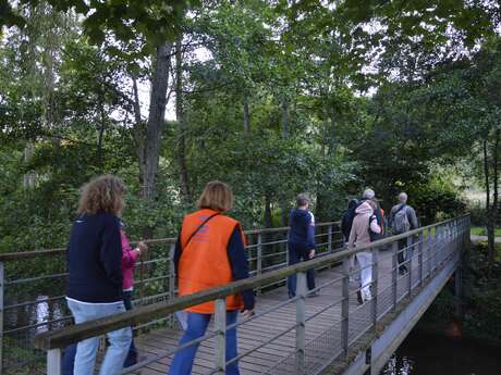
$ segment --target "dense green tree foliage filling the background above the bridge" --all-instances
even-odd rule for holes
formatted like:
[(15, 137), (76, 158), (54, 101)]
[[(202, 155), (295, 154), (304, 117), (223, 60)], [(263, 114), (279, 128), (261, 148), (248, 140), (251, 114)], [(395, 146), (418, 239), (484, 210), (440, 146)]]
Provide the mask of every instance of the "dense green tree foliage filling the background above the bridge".
[[(281, 215), (273, 223), (283, 223), (300, 191), (314, 198), (318, 221), (338, 218), (346, 197), (364, 186), (387, 209), (406, 190), (427, 223), (461, 212), (452, 177), (435, 165), (462, 157), (471, 139), (492, 129), (498, 102), (488, 93), (497, 92), (500, 75), (496, 38), (485, 41), (496, 22), (492, 3), (453, 3), (447, 12), (440, 2), (5, 5), (4, 16), (17, 14), (24, 26), (0, 43), (1, 173), (9, 182), (0, 204), (24, 215), (0, 220), (0, 247), (64, 245), (78, 188), (100, 173), (119, 174), (129, 186), (131, 237), (146, 228), (174, 234), (216, 178), (233, 187), (232, 214), (246, 227), (270, 224), (270, 212)], [(69, 10), (82, 17), (73, 20)], [(132, 84), (155, 75), (145, 57), (180, 33), (183, 121), (166, 124), (150, 201), (140, 196), (138, 140), (147, 109)], [(471, 61), (452, 53), (450, 46), (469, 48), (472, 40), (485, 48)], [(367, 73), (368, 64), (378, 74)], [(361, 97), (371, 85), (377, 92)], [(485, 115), (475, 116), (480, 104)], [(26, 145), (33, 154), (23, 155)], [(186, 171), (190, 197), (180, 183)], [(22, 180), (29, 175), (36, 183), (28, 187)]]

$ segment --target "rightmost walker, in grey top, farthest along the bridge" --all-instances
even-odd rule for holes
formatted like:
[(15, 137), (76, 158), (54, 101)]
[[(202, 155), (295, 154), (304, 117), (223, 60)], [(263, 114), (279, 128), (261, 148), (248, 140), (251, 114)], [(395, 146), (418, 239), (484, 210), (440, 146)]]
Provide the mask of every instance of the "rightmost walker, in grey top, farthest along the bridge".
[[(399, 195), (399, 203), (391, 209), (389, 224), (395, 235), (419, 227), (416, 211), (407, 204), (407, 195), (405, 192)], [(396, 259), (399, 263), (399, 273), (401, 275), (407, 272), (407, 265), (404, 263), (412, 261), (413, 246), (411, 242), (412, 238), (410, 238), (410, 241), (407, 241), (407, 238), (399, 240), (399, 253)]]

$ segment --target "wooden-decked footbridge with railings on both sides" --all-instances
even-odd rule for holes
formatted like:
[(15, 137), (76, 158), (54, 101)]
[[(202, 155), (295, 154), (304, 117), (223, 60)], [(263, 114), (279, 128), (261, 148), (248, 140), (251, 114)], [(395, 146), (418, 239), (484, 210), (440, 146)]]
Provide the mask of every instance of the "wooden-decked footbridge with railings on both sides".
[[(257, 293), (256, 314), (236, 323), (239, 363), (242, 374), (379, 374), (388, 359), (414, 327), (454, 273), (461, 272), (461, 253), (469, 243), (469, 216), (461, 216), (372, 242), (354, 250), (343, 249), (337, 223), (317, 224), (319, 254), (316, 259), (286, 266), (288, 228), (247, 232), (253, 277), (200, 293), (175, 297), (171, 270), (173, 239), (154, 240), (151, 259), (136, 270), (136, 308), (111, 317), (71, 325), (64, 309), (64, 270), (58, 262), (44, 275), (4, 278), (2, 285), (3, 374), (61, 374), (65, 347), (84, 338), (133, 326), (142, 361), (123, 374), (166, 374), (179, 350), (181, 335), (175, 311), (216, 300), (217, 313), (203, 338), (197, 340), (193, 374), (224, 374), (224, 297), (253, 288)], [(399, 242), (400, 249), (399, 249)], [(406, 246), (404, 247), (403, 245)], [(350, 258), (358, 251), (372, 252), (372, 300), (359, 305), (356, 292), (359, 271), (351, 273)], [(408, 272), (401, 275), (398, 253), (406, 254)], [(61, 250), (27, 255), (2, 255), (1, 270), (15, 274), (11, 264), (33, 257), (64, 258)], [(47, 262), (47, 260), (45, 260)], [(60, 264), (61, 266), (61, 264)], [(305, 272), (315, 268), (317, 297), (306, 290)], [(284, 280), (297, 274), (297, 296), (290, 299)], [(461, 277), (455, 277), (460, 287)], [(40, 282), (56, 283), (50, 292), (35, 291), (36, 301), (15, 300), (10, 288), (23, 290)], [(26, 291), (25, 299), (33, 290)], [(3, 296), (3, 293), (5, 296)], [(40, 293), (45, 297), (39, 298)], [(14, 291), (15, 295), (15, 291)], [(49, 303), (50, 302), (50, 303)], [(44, 305), (42, 321), (27, 318), (16, 327), (8, 312), (27, 305)], [(230, 327), (232, 328), (232, 327)], [(36, 337), (35, 337), (36, 336)], [(195, 342), (193, 342), (195, 343)], [(188, 343), (190, 345), (190, 343)], [(34, 349), (36, 347), (37, 349)], [(29, 352), (26, 355), (19, 353)]]

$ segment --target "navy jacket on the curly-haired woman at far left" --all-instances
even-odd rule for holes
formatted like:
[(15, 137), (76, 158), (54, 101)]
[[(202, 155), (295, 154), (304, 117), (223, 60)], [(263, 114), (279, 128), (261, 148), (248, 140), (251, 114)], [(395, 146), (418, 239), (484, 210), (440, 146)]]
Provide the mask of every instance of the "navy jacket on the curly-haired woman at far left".
[(90, 303), (122, 301), (122, 242), (117, 216), (80, 216), (73, 223), (66, 260), (68, 297)]

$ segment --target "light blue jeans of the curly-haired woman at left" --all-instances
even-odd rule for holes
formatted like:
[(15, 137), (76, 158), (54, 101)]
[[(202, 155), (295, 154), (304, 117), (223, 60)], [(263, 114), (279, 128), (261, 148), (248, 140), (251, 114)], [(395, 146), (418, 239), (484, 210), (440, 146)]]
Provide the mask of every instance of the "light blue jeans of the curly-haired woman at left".
[[(94, 321), (99, 317), (113, 315), (125, 311), (122, 301), (115, 303), (83, 303), (68, 300), (75, 324)], [(113, 330), (107, 334), (110, 347), (106, 351), (100, 375), (118, 375), (123, 370), (123, 362), (129, 352), (132, 340), (130, 327)], [(93, 375), (96, 364), (96, 353), (99, 346), (99, 337), (91, 337), (78, 342), (76, 347), (74, 375)]]

